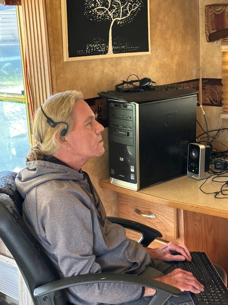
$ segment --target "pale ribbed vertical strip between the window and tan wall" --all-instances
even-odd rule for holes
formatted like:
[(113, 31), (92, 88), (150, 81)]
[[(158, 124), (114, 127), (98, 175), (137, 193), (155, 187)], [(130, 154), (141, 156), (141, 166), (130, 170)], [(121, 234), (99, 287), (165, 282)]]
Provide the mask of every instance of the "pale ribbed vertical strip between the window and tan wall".
[(22, 0), (27, 75), (33, 112), (52, 94), (45, 0)]

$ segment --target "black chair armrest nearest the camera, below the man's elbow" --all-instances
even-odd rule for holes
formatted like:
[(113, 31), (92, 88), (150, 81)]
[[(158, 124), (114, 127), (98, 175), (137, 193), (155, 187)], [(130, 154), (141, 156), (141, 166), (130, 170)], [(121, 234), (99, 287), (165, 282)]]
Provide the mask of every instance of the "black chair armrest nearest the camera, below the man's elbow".
[(179, 296), (181, 294), (180, 289), (145, 276), (122, 273), (95, 273), (80, 274), (47, 283), (45, 285), (37, 287), (34, 290), (33, 295), (34, 297), (39, 299), (40, 304), (46, 305), (50, 303), (50, 300), (53, 300), (54, 293), (57, 290), (66, 289), (75, 285), (85, 285), (94, 283), (132, 284), (156, 289), (156, 293), (153, 298), (153, 304), (159, 305), (162, 305), (166, 300), (168, 300), (170, 296)]

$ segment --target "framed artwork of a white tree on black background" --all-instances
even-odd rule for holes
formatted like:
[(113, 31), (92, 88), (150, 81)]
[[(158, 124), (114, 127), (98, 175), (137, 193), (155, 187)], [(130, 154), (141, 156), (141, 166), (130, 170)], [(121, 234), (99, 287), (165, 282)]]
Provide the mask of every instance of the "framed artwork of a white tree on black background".
[(61, 0), (64, 61), (150, 54), (149, 0)]

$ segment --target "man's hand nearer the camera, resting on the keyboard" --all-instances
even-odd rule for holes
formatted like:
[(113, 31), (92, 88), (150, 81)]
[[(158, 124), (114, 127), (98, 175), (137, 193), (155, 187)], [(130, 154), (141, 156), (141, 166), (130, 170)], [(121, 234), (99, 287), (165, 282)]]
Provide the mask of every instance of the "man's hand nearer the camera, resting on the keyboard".
[(162, 276), (161, 278), (154, 278), (159, 282), (163, 282), (175, 286), (181, 291), (191, 291), (193, 293), (200, 293), (204, 291), (204, 286), (197, 281), (191, 272), (182, 270), (180, 268)]

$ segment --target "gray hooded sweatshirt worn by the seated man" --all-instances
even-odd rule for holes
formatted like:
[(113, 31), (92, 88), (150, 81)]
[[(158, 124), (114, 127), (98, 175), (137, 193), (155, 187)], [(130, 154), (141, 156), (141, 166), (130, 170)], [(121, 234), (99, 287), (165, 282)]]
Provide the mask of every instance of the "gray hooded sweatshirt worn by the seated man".
[[(62, 164), (27, 162), (16, 177), (25, 199), (24, 221), (61, 277), (99, 272), (140, 274), (150, 264), (149, 254), (126, 237), (122, 226), (107, 220), (88, 180), (81, 170)], [(140, 298), (143, 288), (102, 283), (79, 285), (67, 293), (74, 304), (116, 304)]]

